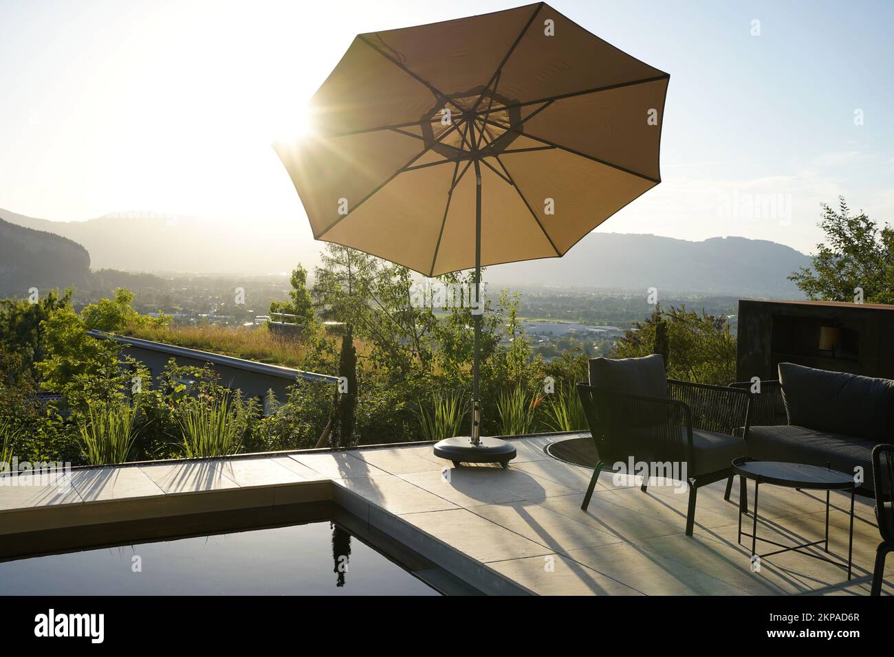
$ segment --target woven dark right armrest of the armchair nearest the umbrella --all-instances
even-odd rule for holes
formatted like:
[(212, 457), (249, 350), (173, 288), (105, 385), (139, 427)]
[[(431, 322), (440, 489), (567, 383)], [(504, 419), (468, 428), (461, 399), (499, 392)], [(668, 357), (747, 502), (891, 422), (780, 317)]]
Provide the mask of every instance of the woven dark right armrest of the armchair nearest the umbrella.
[(687, 404), (692, 413), (693, 428), (717, 434), (748, 435), (751, 395), (741, 388), (709, 385), (668, 379), (671, 398)]

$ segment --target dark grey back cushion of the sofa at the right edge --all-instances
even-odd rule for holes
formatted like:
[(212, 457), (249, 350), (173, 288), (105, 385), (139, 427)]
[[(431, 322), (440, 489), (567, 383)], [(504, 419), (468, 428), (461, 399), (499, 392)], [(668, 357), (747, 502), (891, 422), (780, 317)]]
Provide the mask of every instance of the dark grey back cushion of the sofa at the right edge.
[(894, 381), (780, 363), (789, 425), (889, 442)]

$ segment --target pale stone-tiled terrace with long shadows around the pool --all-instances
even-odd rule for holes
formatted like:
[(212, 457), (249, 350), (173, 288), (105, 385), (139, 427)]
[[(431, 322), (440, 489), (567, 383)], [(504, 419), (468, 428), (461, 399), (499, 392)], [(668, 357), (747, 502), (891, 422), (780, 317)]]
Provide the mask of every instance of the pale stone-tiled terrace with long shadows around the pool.
[[(880, 540), (870, 501), (857, 498), (849, 584), (843, 569), (797, 552), (764, 559), (755, 573), (748, 548), (737, 544), (737, 507), (723, 501), (723, 482), (699, 489), (692, 538), (684, 535), (687, 494), (671, 487), (642, 493), (603, 473), (585, 512), (592, 471), (544, 453), (568, 437), (516, 439), (519, 457), (506, 470), (452, 468), (431, 445), (75, 469), (67, 493), (0, 487), (0, 534), (223, 509), (236, 493), (240, 504), (249, 495), (263, 506), (333, 492), (337, 500), (348, 489), (369, 502), (354, 505), (358, 514), (390, 512), (536, 594), (869, 594)], [(738, 482), (733, 491), (735, 502)], [(849, 497), (832, 493), (832, 501), (830, 549), (847, 556)], [(760, 511), (759, 535), (780, 543), (822, 537), (823, 493), (764, 485)], [(894, 593), (889, 562), (883, 594)]]

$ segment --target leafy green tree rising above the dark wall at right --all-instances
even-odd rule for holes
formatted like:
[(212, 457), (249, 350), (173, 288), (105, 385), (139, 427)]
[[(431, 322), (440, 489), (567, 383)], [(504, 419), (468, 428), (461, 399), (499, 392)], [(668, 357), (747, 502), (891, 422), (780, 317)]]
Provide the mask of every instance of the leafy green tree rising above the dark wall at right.
[(856, 288), (867, 303), (894, 303), (894, 230), (880, 227), (862, 210), (851, 214), (839, 197), (838, 208), (822, 204), (818, 224), (826, 240), (816, 245), (810, 266), (789, 276), (808, 299), (852, 301)]

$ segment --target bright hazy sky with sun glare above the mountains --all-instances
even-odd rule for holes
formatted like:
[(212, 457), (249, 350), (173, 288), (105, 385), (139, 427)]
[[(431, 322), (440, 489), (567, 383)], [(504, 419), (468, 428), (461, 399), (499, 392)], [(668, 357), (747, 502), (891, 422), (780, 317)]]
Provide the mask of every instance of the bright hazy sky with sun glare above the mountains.
[[(516, 4), (0, 0), (0, 207), (306, 225), (270, 143), (354, 35)], [(552, 6), (671, 73), (662, 184), (599, 230), (810, 251), (839, 194), (894, 219), (894, 2)]]

